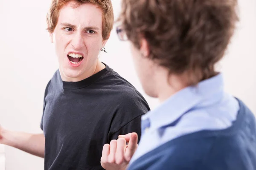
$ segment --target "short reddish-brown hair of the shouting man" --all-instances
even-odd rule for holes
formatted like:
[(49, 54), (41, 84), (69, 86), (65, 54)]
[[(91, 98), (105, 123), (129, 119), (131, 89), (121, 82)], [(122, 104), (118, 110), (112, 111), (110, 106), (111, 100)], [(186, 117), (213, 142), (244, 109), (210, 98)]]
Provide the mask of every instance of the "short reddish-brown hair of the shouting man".
[(52, 0), (51, 7), (47, 13), (47, 30), (52, 33), (58, 22), (58, 14), (61, 8), (67, 3), (75, 1), (76, 5), (80, 6), (83, 3), (91, 3), (99, 6), (102, 9), (102, 37), (104, 40), (109, 38), (113, 28), (114, 14), (111, 0)]

